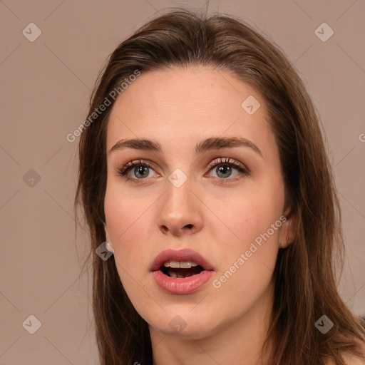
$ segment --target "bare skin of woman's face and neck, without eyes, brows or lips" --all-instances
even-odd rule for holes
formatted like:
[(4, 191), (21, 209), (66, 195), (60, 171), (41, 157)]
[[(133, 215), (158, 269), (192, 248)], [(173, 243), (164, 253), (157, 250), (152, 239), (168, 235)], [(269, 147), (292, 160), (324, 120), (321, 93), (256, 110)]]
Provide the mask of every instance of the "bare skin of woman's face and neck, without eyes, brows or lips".
[[(253, 115), (241, 107), (248, 96), (261, 104)], [(255, 143), (262, 157), (245, 147), (195, 153), (200, 140), (232, 136)], [(107, 149), (136, 137), (158, 141), (163, 152), (108, 152), (106, 239), (128, 297), (150, 324), (153, 364), (242, 364), (242, 359), (247, 365), (268, 364), (267, 356), (259, 361), (259, 351), (272, 310), (272, 273), (279, 248), (293, 240), (295, 217), (284, 210), (279, 151), (264, 99), (227, 71), (142, 73), (111, 110)], [(153, 164), (148, 177), (138, 179), (137, 168), (129, 171), (140, 184), (118, 175), (123, 164), (139, 158)], [(208, 168), (217, 158), (232, 158), (250, 174), (233, 168), (222, 177), (220, 166)], [(187, 175), (181, 187), (168, 180), (176, 168)], [(213, 287), (212, 280), (282, 215), (287, 221), (219, 289)], [(167, 248), (185, 247), (210, 261), (215, 273), (192, 294), (163, 292), (150, 264)], [(176, 315), (186, 324), (178, 333), (169, 325)]]

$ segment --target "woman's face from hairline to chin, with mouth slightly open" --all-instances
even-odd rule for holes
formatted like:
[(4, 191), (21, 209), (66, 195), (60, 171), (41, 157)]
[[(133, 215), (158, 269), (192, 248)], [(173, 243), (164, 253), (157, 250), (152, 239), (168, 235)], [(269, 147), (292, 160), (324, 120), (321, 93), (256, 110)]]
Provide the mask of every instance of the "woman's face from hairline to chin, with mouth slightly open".
[[(255, 89), (210, 68), (141, 73), (115, 101), (106, 239), (151, 329), (203, 338), (270, 307), (277, 252), (292, 235), (265, 118)], [(135, 138), (150, 142), (116, 145)]]

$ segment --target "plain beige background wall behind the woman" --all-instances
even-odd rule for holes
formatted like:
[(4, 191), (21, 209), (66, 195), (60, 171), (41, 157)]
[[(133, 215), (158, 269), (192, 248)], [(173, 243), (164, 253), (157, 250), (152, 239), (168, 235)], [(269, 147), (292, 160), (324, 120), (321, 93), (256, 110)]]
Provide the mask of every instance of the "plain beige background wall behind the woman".
[[(86, 118), (115, 46), (160, 9), (181, 4), (203, 5), (0, 1), (0, 364), (98, 364), (88, 274), (78, 279), (87, 250), (73, 220), (78, 139), (66, 135)], [(322, 115), (344, 215), (348, 262), (339, 289), (365, 315), (365, 1), (210, 1), (210, 9), (257, 26), (304, 78)], [(41, 29), (34, 42), (22, 34), (31, 22)], [(323, 22), (334, 30), (325, 42), (314, 33)], [(35, 334), (22, 326), (31, 314), (41, 322)]]

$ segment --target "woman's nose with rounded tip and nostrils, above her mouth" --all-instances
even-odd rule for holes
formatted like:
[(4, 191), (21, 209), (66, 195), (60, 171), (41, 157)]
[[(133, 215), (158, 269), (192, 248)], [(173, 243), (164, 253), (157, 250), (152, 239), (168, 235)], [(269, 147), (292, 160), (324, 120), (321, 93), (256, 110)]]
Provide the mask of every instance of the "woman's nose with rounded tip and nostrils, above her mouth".
[(158, 227), (163, 235), (192, 235), (202, 229), (202, 202), (191, 190), (190, 180), (180, 187), (168, 181), (160, 200)]

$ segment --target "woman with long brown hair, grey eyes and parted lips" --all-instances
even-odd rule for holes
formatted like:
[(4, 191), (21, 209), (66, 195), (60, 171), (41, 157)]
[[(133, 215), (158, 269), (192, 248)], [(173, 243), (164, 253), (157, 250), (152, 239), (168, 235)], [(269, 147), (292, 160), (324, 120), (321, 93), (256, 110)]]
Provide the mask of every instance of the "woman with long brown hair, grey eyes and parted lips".
[(101, 364), (364, 364), (319, 123), (282, 51), (230, 17), (171, 11), (115, 49), (76, 193)]

